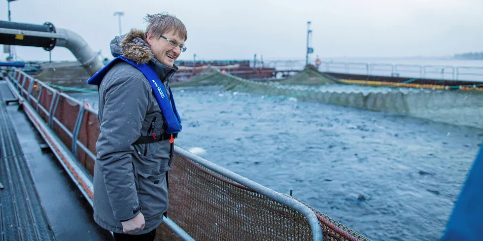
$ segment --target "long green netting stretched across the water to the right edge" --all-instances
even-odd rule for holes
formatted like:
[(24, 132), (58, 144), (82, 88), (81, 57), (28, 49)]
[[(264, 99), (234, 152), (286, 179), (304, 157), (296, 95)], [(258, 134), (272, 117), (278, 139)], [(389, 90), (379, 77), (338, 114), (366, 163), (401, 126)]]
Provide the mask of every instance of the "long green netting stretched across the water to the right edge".
[[(311, 70), (306, 71), (309, 72)], [(304, 74), (306, 74), (304, 73)], [(300, 77), (301, 78), (301, 77)], [(304, 80), (300, 79), (303, 83)], [(212, 86), (217, 90), (258, 94), (265, 99), (296, 98), (387, 113), (404, 114), (483, 129), (483, 92), (368, 87), (360, 85), (290, 85), (242, 79), (218, 69), (207, 69), (173, 87)]]

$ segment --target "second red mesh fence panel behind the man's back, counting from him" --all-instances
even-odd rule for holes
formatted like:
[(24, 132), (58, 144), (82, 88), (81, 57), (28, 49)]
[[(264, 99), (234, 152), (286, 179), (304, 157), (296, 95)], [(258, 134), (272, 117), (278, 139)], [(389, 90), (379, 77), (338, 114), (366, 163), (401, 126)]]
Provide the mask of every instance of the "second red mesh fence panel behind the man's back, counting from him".
[[(58, 102), (59, 103), (57, 104), (54, 117), (59, 120), (70, 133), (72, 133), (74, 131), (75, 121), (77, 119), (77, 115), (79, 114), (80, 106), (77, 103), (70, 102), (69, 99), (65, 98), (64, 96), (60, 96)], [(62, 142), (64, 142), (69, 150), (71, 150), (72, 138), (69, 136), (69, 134), (55, 121), (53, 122), (52, 130), (57, 134)]]

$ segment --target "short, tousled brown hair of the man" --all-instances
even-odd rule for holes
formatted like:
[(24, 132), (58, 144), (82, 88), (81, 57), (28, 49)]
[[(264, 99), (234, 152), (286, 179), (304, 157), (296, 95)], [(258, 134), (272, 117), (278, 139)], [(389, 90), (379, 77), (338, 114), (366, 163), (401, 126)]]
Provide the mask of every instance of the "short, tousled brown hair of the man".
[(146, 27), (146, 32), (144, 37), (147, 38), (147, 33), (151, 32), (156, 38), (160, 38), (162, 34), (170, 32), (172, 30), (179, 34), (179, 37), (188, 39), (188, 32), (186, 31), (186, 26), (183, 22), (176, 18), (174, 15), (170, 15), (167, 12), (157, 13), (157, 14), (146, 14), (144, 21), (148, 23)]

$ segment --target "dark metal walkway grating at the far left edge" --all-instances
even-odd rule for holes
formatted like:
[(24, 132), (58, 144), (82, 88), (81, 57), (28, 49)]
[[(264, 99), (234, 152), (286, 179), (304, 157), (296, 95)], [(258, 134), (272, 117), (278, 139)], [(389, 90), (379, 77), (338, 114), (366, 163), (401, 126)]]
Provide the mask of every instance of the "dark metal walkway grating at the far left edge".
[[(6, 88), (6, 89), (5, 89)], [(34, 181), (5, 102), (12, 95), (0, 83), (0, 228), (1, 241), (54, 241)]]

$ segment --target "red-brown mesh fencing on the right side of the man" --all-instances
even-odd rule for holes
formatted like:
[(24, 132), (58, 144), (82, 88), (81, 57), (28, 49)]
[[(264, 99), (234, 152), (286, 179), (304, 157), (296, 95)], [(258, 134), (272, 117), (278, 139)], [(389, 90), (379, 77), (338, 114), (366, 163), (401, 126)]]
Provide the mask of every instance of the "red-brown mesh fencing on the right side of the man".
[[(177, 153), (169, 181), (168, 216), (195, 240), (312, 239), (310, 224), (299, 212)], [(324, 241), (364, 240), (355, 238), (340, 228), (344, 226), (325, 217), (318, 215)], [(160, 234), (157, 241), (181, 241), (165, 224), (160, 225), (157, 232)]]

